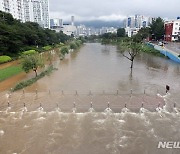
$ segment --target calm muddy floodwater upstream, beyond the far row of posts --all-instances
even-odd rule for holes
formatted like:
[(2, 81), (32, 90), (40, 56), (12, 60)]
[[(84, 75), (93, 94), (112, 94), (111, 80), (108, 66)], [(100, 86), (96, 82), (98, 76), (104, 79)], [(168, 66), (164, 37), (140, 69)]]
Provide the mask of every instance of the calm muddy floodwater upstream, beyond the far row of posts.
[(130, 61), (122, 56), (116, 46), (98, 43), (86, 44), (79, 52), (56, 63), (59, 69), (51, 76), (39, 80), (27, 91), (114, 91), (129, 93), (165, 92), (165, 85), (172, 92), (180, 89), (180, 65), (170, 60), (141, 54), (136, 58), (133, 72)]

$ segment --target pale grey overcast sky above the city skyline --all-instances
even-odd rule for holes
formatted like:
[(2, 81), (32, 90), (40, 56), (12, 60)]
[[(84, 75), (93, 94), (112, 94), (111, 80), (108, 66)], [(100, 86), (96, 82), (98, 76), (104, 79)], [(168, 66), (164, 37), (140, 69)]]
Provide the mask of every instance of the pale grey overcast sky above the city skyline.
[(51, 18), (68, 21), (122, 20), (126, 16), (146, 16), (174, 19), (180, 16), (180, 0), (49, 0)]

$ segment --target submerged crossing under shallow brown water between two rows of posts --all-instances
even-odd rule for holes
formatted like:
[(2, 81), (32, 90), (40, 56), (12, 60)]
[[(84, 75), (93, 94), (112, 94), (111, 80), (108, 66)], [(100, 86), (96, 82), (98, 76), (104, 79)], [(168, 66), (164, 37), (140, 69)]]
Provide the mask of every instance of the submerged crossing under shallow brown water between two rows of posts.
[[(119, 94), (119, 93), (88, 93), (74, 94), (67, 92), (34, 92), (34, 93), (12, 93), (2, 94), (0, 100), (0, 110), (8, 107), (16, 112), (26, 107), (28, 111), (35, 111), (43, 108), (44, 111), (54, 111), (57, 106), (62, 112), (71, 112), (76, 108), (76, 112), (88, 112), (93, 106), (96, 112), (103, 112), (104, 109), (111, 108), (113, 112), (121, 112), (125, 107), (134, 112), (139, 112), (140, 108), (156, 111), (156, 108), (163, 108), (165, 100), (160, 94)], [(173, 106), (173, 105), (172, 105)]]

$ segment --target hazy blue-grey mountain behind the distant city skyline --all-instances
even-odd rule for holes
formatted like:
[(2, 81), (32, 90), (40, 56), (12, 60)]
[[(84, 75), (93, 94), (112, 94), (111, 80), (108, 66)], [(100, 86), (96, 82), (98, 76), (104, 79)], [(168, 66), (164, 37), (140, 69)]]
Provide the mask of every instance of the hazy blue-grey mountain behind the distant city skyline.
[(101, 27), (122, 27), (122, 21), (101, 21), (101, 20), (93, 20), (93, 21), (81, 21), (75, 22), (75, 25), (78, 26), (83, 24), (87, 27), (101, 28)]

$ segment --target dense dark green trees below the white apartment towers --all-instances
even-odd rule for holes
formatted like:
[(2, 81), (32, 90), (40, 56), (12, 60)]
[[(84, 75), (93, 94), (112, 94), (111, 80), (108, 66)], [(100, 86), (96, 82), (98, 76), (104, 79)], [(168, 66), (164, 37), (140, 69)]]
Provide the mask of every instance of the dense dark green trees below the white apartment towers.
[(17, 54), (35, 47), (66, 42), (69, 37), (43, 29), (37, 23), (22, 23), (11, 14), (0, 11), (0, 55)]

